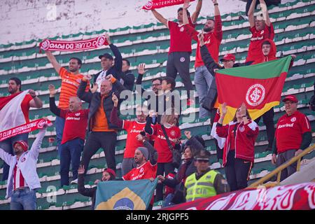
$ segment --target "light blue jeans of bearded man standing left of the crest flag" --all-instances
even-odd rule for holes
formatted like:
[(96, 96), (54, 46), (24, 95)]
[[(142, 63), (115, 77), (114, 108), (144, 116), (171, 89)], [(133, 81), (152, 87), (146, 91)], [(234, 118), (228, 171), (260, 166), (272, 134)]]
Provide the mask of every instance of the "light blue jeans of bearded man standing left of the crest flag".
[[(206, 66), (199, 66), (195, 68), (195, 85), (199, 96), (199, 104), (202, 105), (204, 97), (207, 96), (210, 85), (214, 81), (214, 76), (208, 71)], [(200, 106), (199, 118), (209, 118), (210, 113)]]

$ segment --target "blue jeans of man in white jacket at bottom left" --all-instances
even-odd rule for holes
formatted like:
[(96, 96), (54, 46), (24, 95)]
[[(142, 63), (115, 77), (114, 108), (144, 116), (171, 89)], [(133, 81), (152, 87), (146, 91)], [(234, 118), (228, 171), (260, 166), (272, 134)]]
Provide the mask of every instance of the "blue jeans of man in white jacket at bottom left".
[(13, 191), (10, 210), (36, 210), (36, 190), (23, 188)]

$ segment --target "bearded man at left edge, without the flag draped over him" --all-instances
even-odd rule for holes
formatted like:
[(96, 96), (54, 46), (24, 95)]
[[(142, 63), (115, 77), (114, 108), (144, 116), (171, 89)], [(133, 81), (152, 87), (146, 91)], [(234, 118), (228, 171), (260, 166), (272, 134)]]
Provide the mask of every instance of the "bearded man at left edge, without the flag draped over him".
[[(13, 95), (20, 94), (22, 92), (22, 82), (19, 78), (10, 78), (8, 82), (8, 92), (10, 93), (10, 96), (13, 97)], [(2, 98), (2, 97), (1, 97)], [(31, 107), (33, 108), (41, 108), (43, 106), (43, 102), (41, 102), (41, 99), (36, 97), (36, 92), (34, 90), (29, 90), (29, 94), (25, 96), (21, 103), (21, 109), (25, 115), (25, 122), (29, 123), (29, 109)], [(0, 110), (3, 108), (2, 105), (0, 105)], [(1, 120), (1, 123), (4, 122)], [(4, 130), (1, 130), (4, 131)], [(27, 143), (27, 139), (29, 137), (28, 133), (25, 134), (18, 134), (14, 137), (11, 137), (10, 139), (6, 139), (3, 141), (0, 141), (0, 148), (2, 148), (6, 153), (9, 153), (10, 155), (13, 155), (13, 144), (15, 141), (25, 141)], [(2, 175), (2, 181), (6, 181), (8, 179), (8, 172), (9, 172), (9, 165), (6, 163), (3, 164), (3, 175)]]

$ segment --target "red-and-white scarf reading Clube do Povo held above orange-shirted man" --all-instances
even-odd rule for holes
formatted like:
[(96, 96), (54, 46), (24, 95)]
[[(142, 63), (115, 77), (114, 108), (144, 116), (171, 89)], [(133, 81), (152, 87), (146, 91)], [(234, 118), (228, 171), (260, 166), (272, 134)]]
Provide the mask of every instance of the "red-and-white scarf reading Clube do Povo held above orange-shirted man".
[(41, 50), (76, 51), (99, 48), (102, 45), (109, 45), (104, 35), (84, 41), (54, 41), (45, 39), (39, 44), (39, 47)]

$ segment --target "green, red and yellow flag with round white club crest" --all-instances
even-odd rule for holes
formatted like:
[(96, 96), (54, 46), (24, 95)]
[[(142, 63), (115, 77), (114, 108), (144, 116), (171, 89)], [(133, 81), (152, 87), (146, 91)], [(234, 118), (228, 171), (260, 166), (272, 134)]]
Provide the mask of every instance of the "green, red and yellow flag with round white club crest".
[(218, 70), (218, 103), (221, 109), (225, 102), (228, 109), (223, 124), (234, 118), (243, 102), (252, 120), (279, 105), (290, 61), (291, 57), (287, 56), (271, 62)]

